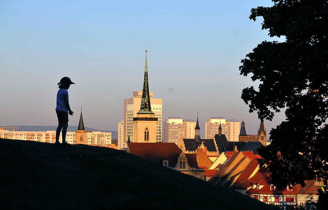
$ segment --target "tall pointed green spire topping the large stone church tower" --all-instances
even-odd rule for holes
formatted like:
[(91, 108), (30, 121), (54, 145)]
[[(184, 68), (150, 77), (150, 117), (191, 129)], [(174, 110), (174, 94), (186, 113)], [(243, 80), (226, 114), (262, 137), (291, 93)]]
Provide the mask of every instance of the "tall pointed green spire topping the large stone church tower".
[(137, 114), (155, 114), (150, 106), (150, 96), (149, 96), (149, 87), (148, 87), (147, 50), (146, 50), (146, 62), (145, 62), (144, 86), (142, 88), (140, 110), (137, 112)]

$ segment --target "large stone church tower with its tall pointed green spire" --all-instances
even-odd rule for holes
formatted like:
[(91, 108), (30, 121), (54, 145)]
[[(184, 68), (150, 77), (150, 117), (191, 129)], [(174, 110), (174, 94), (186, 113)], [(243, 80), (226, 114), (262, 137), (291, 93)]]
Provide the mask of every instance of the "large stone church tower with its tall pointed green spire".
[(142, 98), (140, 110), (137, 116), (133, 117), (133, 142), (156, 142), (156, 128), (158, 118), (152, 111), (150, 105), (149, 87), (148, 87), (148, 66), (147, 50), (145, 62), (144, 84), (142, 88)]

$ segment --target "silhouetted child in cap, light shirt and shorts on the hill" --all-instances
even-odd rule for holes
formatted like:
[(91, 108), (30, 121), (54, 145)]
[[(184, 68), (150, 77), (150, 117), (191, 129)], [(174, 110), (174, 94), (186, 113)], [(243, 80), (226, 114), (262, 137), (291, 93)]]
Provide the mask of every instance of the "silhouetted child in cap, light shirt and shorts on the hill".
[[(68, 127), (68, 114), (73, 115), (68, 100), (68, 88), (70, 88), (71, 84), (75, 84), (71, 81), (68, 77), (63, 77), (60, 82), (58, 83), (58, 90), (57, 93), (57, 106), (56, 106), (56, 113), (58, 117), (58, 128), (56, 130), (56, 142), (55, 146), (71, 146), (69, 143), (66, 142), (66, 132)], [(63, 128), (62, 131), (62, 143), (59, 142), (60, 130)]]

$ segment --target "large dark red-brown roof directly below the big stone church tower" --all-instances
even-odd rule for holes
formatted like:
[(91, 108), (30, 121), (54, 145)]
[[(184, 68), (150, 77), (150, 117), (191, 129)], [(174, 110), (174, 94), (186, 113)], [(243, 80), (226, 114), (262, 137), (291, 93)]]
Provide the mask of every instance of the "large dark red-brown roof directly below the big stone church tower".
[[(176, 165), (178, 157), (182, 152), (175, 143), (129, 142), (127, 144), (131, 154), (142, 157), (149, 161), (154, 161), (155, 164), (159, 164), (159, 165), (162, 165), (163, 160), (168, 160), (169, 167), (174, 167)], [(190, 166), (193, 167), (192, 165)]]

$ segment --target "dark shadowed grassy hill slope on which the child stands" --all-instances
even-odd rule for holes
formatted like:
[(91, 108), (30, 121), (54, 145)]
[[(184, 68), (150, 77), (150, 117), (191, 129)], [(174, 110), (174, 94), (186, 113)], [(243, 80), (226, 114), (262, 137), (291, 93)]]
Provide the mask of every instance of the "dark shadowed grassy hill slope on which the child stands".
[(279, 209), (110, 148), (0, 139), (2, 209)]

